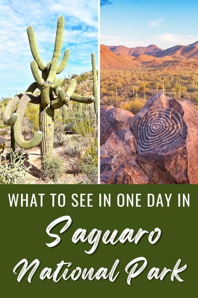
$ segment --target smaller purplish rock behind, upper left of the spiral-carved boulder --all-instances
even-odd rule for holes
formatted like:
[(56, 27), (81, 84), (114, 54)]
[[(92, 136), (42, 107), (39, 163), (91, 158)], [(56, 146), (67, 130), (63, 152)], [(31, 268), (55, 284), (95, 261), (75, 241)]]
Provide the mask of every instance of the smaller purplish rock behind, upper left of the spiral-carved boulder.
[(103, 145), (113, 131), (129, 127), (133, 113), (113, 106), (100, 108), (100, 145)]

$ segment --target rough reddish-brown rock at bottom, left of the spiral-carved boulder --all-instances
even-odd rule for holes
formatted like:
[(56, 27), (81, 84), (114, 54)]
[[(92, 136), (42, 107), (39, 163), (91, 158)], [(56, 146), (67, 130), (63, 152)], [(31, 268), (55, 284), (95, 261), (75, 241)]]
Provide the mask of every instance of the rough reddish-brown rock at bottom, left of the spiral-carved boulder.
[(136, 162), (137, 141), (129, 128), (113, 132), (100, 151), (100, 179), (107, 184), (145, 184), (148, 177)]

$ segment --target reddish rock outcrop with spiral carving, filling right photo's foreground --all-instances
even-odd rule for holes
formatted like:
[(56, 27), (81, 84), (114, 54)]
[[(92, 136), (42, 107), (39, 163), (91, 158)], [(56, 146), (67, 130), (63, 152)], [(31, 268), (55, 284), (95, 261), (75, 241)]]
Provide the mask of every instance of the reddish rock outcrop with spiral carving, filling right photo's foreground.
[(198, 113), (157, 94), (101, 149), (101, 180), (122, 184), (197, 184)]

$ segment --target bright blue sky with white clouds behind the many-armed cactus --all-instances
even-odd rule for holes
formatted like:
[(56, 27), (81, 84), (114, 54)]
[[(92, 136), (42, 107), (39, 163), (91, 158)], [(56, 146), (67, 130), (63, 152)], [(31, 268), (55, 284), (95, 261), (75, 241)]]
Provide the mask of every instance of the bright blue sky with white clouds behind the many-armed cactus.
[(70, 56), (58, 77), (91, 70), (91, 52), (98, 56), (97, 0), (0, 0), (0, 11), (0, 98), (23, 92), (34, 82), (27, 26), (34, 28), (40, 56), (47, 63), (53, 55), (59, 15), (65, 18), (62, 56), (66, 48)]

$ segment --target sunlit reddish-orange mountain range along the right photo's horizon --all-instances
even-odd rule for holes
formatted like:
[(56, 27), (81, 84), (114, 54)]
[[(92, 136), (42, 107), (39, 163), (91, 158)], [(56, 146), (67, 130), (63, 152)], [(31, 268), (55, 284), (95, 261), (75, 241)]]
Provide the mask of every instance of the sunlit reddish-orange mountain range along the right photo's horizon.
[(132, 69), (136, 66), (179, 65), (195, 63), (198, 59), (198, 41), (188, 46), (173, 46), (160, 49), (156, 45), (127, 48), (126, 46), (104, 46), (100, 48), (101, 69)]

